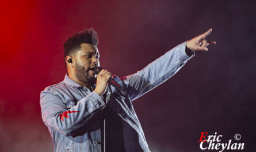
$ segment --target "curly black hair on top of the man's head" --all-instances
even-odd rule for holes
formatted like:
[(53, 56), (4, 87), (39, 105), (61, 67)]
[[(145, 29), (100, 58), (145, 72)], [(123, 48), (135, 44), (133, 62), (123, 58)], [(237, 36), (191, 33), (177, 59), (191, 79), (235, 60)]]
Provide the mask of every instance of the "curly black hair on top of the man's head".
[[(71, 55), (78, 50), (81, 50), (81, 44), (87, 43), (92, 45), (98, 45), (98, 37), (97, 32), (93, 29), (86, 29), (81, 32), (74, 34), (73, 36), (67, 38), (66, 42), (64, 42), (64, 59), (66, 56)], [(66, 62), (65, 62), (66, 63)]]

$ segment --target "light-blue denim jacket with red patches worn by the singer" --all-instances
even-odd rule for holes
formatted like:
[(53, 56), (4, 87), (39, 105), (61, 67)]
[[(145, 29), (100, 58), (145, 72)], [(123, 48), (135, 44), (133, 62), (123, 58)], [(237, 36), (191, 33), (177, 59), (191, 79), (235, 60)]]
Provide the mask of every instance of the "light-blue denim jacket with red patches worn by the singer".
[[(132, 101), (165, 82), (191, 57), (185, 53), (186, 42), (166, 52), (141, 71), (114, 77), (120, 91), (108, 86), (106, 100), (120, 116), (124, 147), (127, 152), (150, 151)], [(79, 85), (67, 75), (58, 84), (41, 92), (41, 113), (54, 142), (54, 151), (99, 151), (101, 130), (98, 115), (105, 107), (96, 92)]]

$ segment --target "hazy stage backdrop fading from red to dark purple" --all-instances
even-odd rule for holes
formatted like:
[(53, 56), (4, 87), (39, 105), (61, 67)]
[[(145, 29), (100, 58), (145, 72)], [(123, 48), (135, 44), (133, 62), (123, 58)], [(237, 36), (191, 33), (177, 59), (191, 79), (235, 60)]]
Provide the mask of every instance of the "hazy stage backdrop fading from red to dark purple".
[(244, 142), (245, 149), (236, 151), (255, 151), (255, 4), (1, 2), (0, 151), (53, 151), (41, 121), (40, 92), (64, 79), (66, 38), (90, 27), (100, 37), (101, 66), (118, 76), (139, 71), (212, 28), (208, 40), (216, 45), (209, 52), (196, 52), (175, 76), (133, 106), (151, 151), (203, 151), (200, 132), (223, 135), (221, 143)]

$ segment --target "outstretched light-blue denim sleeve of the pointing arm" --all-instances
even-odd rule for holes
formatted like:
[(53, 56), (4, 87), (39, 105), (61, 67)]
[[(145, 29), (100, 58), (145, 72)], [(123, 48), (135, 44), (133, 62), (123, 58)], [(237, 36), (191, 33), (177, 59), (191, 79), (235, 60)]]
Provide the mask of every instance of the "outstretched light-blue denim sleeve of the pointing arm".
[(123, 81), (131, 101), (175, 75), (185, 65), (186, 61), (194, 56), (194, 51), (192, 51), (192, 56), (189, 57), (185, 49), (186, 42), (183, 42), (137, 73), (124, 77)]

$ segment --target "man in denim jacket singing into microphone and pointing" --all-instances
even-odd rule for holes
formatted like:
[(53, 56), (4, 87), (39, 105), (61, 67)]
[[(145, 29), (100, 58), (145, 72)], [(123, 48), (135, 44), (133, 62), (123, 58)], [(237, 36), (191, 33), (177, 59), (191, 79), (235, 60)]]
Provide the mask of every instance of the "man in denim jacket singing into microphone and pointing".
[[(41, 92), (42, 119), (54, 151), (150, 151), (132, 101), (165, 82), (194, 56), (207, 51), (207, 32), (166, 52), (141, 71), (113, 76), (100, 66), (94, 29), (74, 34), (64, 43), (67, 74)], [(97, 74), (97, 78), (95, 75)], [(119, 87), (110, 85), (114, 81)]]

